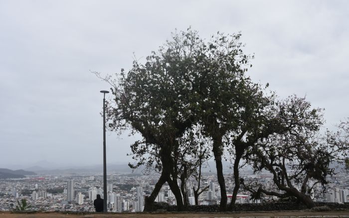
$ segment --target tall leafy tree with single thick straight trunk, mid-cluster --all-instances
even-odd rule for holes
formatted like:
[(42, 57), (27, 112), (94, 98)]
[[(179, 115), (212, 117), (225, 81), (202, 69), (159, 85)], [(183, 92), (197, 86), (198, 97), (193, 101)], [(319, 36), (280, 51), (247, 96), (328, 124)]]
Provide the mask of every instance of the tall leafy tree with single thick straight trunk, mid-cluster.
[[(249, 99), (260, 93), (260, 86), (254, 84), (246, 71), (253, 56), (244, 54), (239, 41), (241, 34), (217, 33), (204, 46), (201, 71), (205, 77), (200, 82), (200, 110), (198, 122), (203, 134), (212, 139), (212, 152), (216, 164), (217, 180), (220, 187), (220, 211), (227, 210), (227, 195), (223, 176), (222, 155), (228, 146), (230, 133), (241, 129), (241, 117), (248, 110)], [(259, 101), (259, 99), (255, 99)], [(257, 102), (260, 104), (260, 102)], [(254, 110), (249, 110), (254, 113)], [(251, 114), (249, 116), (254, 116)]]

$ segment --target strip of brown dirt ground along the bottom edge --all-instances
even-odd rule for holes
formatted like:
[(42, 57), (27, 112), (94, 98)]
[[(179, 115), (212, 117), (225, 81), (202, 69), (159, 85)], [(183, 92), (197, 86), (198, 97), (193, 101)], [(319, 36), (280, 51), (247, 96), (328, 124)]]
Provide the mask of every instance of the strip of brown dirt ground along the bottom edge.
[(0, 218), (238, 218), (238, 217), (300, 217), (300, 216), (349, 216), (349, 211), (289, 211), (260, 213), (154, 213), (154, 214), (88, 214), (68, 215), (64, 213), (11, 214), (0, 212)]

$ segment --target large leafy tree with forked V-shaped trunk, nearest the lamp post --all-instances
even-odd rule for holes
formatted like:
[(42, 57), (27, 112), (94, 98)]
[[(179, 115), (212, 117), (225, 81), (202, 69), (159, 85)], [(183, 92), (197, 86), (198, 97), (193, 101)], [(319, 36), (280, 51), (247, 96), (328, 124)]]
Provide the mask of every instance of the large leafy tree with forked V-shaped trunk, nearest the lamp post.
[(109, 127), (116, 131), (131, 129), (143, 139), (131, 148), (136, 160), (161, 172), (145, 211), (152, 205), (164, 183), (176, 198), (178, 210), (183, 201), (179, 178), (179, 139), (196, 122), (200, 81), (206, 75), (199, 70), (203, 42), (195, 31), (175, 32), (146, 63), (135, 60), (128, 72), (104, 78), (112, 85), (114, 101), (108, 105)]

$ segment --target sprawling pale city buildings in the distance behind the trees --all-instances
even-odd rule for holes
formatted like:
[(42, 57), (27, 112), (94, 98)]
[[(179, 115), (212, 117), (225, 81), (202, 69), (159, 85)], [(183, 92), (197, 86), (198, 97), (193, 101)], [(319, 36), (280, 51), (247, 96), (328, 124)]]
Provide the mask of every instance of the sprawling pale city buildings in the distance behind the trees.
[[(225, 175), (228, 178), (228, 175)], [(103, 197), (102, 176), (95, 174), (87, 175), (41, 175), (40, 178), (32, 175), (23, 179), (1, 180), (0, 181), (0, 210), (12, 210), (8, 200), (16, 201), (25, 198), (32, 210), (44, 211), (89, 211), (94, 212), (93, 201), (97, 195)], [(316, 203), (347, 203), (349, 202), (349, 175), (340, 173), (336, 177), (330, 178), (326, 192), (320, 184), (314, 184), (311, 181), (308, 185), (314, 189), (310, 195)], [(122, 174), (114, 173), (108, 176), (109, 191), (107, 195), (108, 210), (113, 212), (139, 212), (143, 210), (144, 198), (149, 196), (154, 190), (159, 175), (140, 175), (140, 174)], [(258, 180), (263, 186), (273, 184), (273, 175), (271, 173), (253, 175), (248, 173), (244, 176), (245, 180)], [(292, 182), (294, 183), (294, 182)], [(294, 183), (294, 187), (300, 190), (302, 183)], [(194, 178), (186, 181), (186, 190), (190, 205), (194, 205), (193, 190), (191, 187), (197, 186)], [(199, 205), (216, 205), (221, 200), (220, 188), (215, 174), (202, 174), (200, 186), (209, 188), (198, 197)], [(231, 201), (234, 183), (232, 180), (226, 180), (227, 198)], [(237, 194), (236, 204), (243, 207), (243, 204), (260, 203), (260, 200), (252, 199), (250, 193), (240, 189)], [(278, 204), (279, 200), (275, 196), (264, 196), (265, 204)], [(255, 202), (253, 202), (255, 201)], [(270, 202), (271, 201), (271, 202)], [(69, 204), (69, 202), (71, 204)], [(175, 197), (168, 184), (160, 189), (156, 202), (166, 202), (175, 205)], [(76, 204), (77, 203), (77, 204)], [(290, 211), (287, 205), (287, 210)], [(292, 204), (291, 204), (292, 205)], [(343, 204), (332, 204), (332, 207), (343, 207)], [(249, 210), (255, 207), (246, 205)], [(291, 207), (300, 207), (297, 205)], [(331, 208), (332, 208), (331, 207)], [(268, 207), (266, 207), (267, 209)], [(260, 210), (260, 208), (258, 209)], [(285, 210), (284, 207), (278, 207), (278, 210)], [(294, 210), (294, 209), (293, 209)]]

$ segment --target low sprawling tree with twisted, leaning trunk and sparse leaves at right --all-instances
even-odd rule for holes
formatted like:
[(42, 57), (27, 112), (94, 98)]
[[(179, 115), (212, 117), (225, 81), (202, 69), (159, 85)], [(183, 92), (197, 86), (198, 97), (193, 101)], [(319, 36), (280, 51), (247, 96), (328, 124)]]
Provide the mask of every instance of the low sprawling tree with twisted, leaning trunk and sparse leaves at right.
[[(304, 98), (293, 97), (279, 102), (277, 118), (286, 131), (275, 133), (259, 140), (246, 155), (255, 172), (267, 170), (273, 174), (277, 190), (266, 190), (259, 186), (251, 189), (258, 197), (261, 193), (279, 198), (295, 197), (308, 208), (315, 207), (310, 198), (313, 187), (320, 183), (326, 185), (334, 169), (329, 167), (338, 153), (329, 149), (326, 137), (319, 138), (323, 124), (321, 109), (311, 109), (311, 104)], [(307, 187), (310, 180), (316, 181)], [(301, 190), (296, 186), (299, 185)]]

